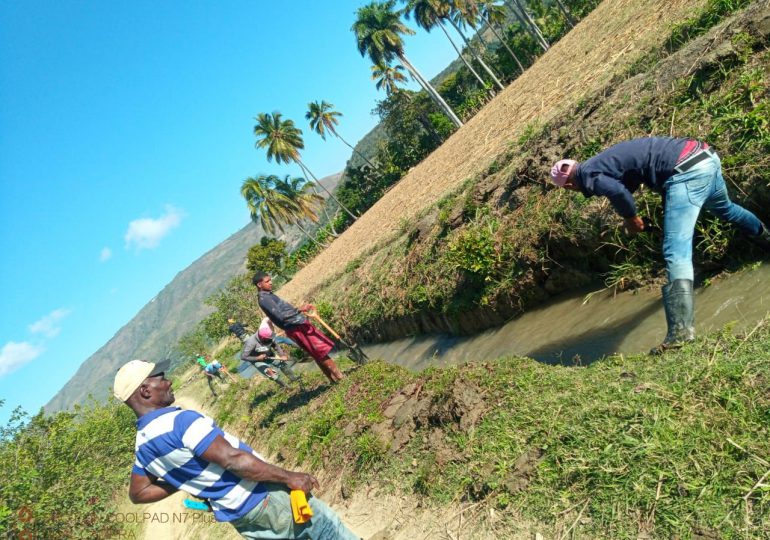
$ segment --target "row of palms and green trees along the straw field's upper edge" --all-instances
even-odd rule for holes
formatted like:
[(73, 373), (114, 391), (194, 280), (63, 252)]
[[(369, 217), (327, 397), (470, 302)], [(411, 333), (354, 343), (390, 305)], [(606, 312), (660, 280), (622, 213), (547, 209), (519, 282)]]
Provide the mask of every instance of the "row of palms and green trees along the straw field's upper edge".
[[(302, 129), (279, 111), (259, 113), (253, 130), (255, 146), (266, 152), (269, 162), (296, 164), (302, 175), (249, 177), (241, 185), (241, 195), (251, 219), (268, 235), (276, 236), (293, 226), (305, 240), (292, 253), (276, 251), (275, 243), (252, 249), (262, 256), (266, 252), (263, 248), (269, 246), (267, 251), (279, 261), (279, 274), (289, 277), (598, 3), (375, 0), (358, 8), (351, 31), (357, 50), (372, 63), (373, 83), (385, 94), (373, 110), (380, 119), (384, 140), (373, 148), (353, 146), (340, 134), (343, 114), (333, 103), (308, 103), (305, 119), (309, 129), (323, 140), (327, 135), (339, 139), (352, 151), (343, 182), (332, 192), (318, 182), (302, 159)], [(458, 54), (459, 68), (437, 84), (431, 83), (406, 54), (404, 38), (415, 34), (407, 21), (414, 21), (426, 32), (443, 32)], [(408, 78), (421, 90), (404, 88)]]

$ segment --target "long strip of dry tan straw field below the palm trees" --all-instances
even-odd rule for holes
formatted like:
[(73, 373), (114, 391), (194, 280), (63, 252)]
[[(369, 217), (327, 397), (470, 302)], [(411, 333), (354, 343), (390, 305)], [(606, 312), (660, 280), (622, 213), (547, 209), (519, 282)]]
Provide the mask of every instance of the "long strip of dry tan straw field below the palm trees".
[[(704, 3), (605, 0), (300, 270), (281, 295), (292, 301), (311, 297), (367, 249), (396, 234), (403, 220), (484, 170), (532, 121), (548, 121), (596, 92), (641, 53), (659, 45), (672, 23)], [(546, 174), (544, 170), (544, 178)]]

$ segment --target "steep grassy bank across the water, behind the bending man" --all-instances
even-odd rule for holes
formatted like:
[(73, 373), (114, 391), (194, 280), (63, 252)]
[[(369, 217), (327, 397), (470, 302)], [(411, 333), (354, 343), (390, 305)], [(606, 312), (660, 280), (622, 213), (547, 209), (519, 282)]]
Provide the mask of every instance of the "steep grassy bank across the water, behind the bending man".
[[(382, 339), (389, 337), (387, 321), (400, 324), (396, 334), (426, 331), (425, 317), (414, 322), (425, 314), (457, 316), (456, 326), (479, 330), (495, 324), (488, 312), (505, 319), (602, 275), (621, 288), (650, 283), (662, 272), (657, 237), (629, 238), (605, 200), (543, 184), (559, 156), (583, 159), (648, 134), (708, 140), (722, 155), (734, 198), (770, 219), (768, 20), (767, 5), (754, 2), (674, 54), (684, 28), (711, 22), (696, 17), (669, 30), (667, 43), (566, 114), (531, 123), (487, 169), (402, 221), (395, 236), (349, 262), (315, 298), (328, 303), (338, 326)], [(661, 223), (659, 196), (639, 200), (641, 212)], [(734, 229), (708, 218), (695, 252), (701, 276), (761, 256)]]

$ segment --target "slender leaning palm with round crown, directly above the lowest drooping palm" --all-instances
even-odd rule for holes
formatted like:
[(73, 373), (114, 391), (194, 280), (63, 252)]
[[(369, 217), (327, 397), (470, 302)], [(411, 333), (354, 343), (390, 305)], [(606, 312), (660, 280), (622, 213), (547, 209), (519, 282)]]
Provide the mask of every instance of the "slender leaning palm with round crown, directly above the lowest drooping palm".
[(305, 142), (302, 140), (302, 130), (294, 125), (292, 120), (283, 120), (281, 113), (273, 111), (273, 114), (259, 113), (254, 118), (257, 123), (254, 126), (254, 136), (257, 138), (257, 142), (254, 145), (257, 148), (267, 149), (267, 160), (272, 161), (275, 159), (278, 163), (296, 163), (300, 169), (315, 180), (315, 183), (336, 202), (340, 208), (345, 210), (350, 217), (355, 221), (358, 216), (348, 210), (348, 208), (342, 204), (334, 194), (326, 189), (323, 184), (318, 181), (318, 178), (310, 172), (304, 162), (299, 151), (305, 148)]

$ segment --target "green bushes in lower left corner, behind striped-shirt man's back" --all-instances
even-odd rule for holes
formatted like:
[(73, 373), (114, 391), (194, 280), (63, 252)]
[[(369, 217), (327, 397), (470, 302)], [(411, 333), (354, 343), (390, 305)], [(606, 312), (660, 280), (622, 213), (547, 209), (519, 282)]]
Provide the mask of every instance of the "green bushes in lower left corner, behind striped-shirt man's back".
[(120, 532), (114, 495), (126, 488), (136, 418), (122, 403), (29, 418), (0, 428), (0, 535), (110, 538)]

